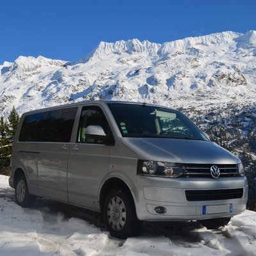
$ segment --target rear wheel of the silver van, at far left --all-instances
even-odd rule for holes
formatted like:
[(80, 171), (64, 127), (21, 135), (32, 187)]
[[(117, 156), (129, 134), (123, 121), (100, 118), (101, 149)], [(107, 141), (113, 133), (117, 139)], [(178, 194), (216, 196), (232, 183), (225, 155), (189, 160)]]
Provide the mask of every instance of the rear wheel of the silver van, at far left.
[(31, 207), (35, 203), (36, 196), (30, 195), (28, 184), (24, 175), (19, 175), (15, 186), (15, 200), (21, 207)]

